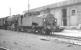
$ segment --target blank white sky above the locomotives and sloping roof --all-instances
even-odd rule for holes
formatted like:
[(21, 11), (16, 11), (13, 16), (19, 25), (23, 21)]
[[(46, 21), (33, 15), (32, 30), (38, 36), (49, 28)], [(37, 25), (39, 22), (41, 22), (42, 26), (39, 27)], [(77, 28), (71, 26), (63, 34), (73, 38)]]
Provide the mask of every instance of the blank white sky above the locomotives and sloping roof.
[[(64, 0), (30, 0), (30, 9), (42, 7), (48, 4), (61, 2)], [(28, 0), (0, 0), (0, 18), (15, 14), (22, 14), (28, 9)]]

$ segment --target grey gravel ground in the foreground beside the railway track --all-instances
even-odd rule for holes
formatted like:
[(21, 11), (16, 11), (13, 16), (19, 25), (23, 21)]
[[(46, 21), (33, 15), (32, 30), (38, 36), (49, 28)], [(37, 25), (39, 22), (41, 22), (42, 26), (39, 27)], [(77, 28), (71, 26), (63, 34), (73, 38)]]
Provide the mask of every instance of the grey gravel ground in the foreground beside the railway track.
[(8, 30), (0, 30), (0, 47), (10, 50), (81, 50), (81, 46), (78, 45), (42, 39), (40, 35)]

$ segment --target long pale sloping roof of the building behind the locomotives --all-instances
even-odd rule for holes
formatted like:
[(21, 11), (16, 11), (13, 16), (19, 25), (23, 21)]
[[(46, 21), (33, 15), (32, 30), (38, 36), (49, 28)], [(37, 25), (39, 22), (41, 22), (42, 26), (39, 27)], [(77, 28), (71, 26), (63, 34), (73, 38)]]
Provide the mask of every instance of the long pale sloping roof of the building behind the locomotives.
[(81, 3), (81, 0), (66, 0), (66, 1), (63, 1), (63, 2), (54, 3), (54, 4), (51, 4), (51, 5), (46, 5), (46, 6), (43, 6), (43, 7), (35, 8), (35, 9), (30, 10), (30, 11), (41, 11), (41, 10), (45, 10), (47, 8), (57, 8), (57, 7), (73, 5), (73, 4), (77, 4), (77, 3)]

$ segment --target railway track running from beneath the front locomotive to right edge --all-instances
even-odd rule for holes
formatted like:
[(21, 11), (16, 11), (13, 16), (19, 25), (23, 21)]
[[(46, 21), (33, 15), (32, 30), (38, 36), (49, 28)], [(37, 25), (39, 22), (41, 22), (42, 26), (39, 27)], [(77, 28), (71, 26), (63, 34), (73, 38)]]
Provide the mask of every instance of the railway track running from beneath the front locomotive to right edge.
[(73, 45), (79, 45), (81, 46), (81, 37), (72, 37), (72, 36), (64, 36), (64, 35), (41, 35), (41, 39), (44, 40), (58, 40), (61, 42), (65, 42), (65, 43), (70, 43)]

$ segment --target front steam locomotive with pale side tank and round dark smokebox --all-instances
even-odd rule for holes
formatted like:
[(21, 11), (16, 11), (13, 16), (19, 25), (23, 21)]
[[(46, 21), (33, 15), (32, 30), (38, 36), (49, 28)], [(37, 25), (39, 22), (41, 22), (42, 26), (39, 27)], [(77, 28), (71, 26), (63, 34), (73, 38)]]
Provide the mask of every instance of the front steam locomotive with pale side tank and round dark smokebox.
[(61, 32), (63, 28), (57, 26), (57, 19), (52, 14), (21, 16), (18, 18), (18, 31), (33, 32), (38, 34), (50, 34)]

